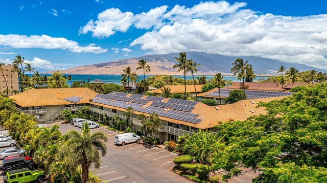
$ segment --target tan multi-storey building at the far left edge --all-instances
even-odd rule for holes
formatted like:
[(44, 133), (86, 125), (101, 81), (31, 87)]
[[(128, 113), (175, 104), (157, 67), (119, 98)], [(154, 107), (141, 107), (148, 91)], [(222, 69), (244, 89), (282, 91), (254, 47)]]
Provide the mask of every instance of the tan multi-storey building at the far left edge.
[[(18, 90), (18, 74), (17, 73), (12, 73), (11, 70), (13, 68), (13, 66), (9, 66), (9, 65), (5, 65), (2, 66), (2, 68), (4, 69), (4, 76), (2, 75), (2, 73), (0, 74), (0, 92), (1, 94), (4, 94), (4, 91), (7, 89), (6, 87), (6, 83), (5, 83), (5, 79), (7, 81), (7, 85), (8, 85), (8, 89), (11, 91), (10, 93), (8, 93), (9, 96), (14, 95), (14, 93), (12, 92), (13, 90)], [(5, 93), (7, 94), (7, 93)]]

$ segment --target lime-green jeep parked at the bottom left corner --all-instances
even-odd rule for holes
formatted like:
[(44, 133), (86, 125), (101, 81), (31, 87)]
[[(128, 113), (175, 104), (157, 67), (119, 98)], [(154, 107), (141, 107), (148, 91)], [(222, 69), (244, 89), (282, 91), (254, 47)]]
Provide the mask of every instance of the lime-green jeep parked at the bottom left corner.
[(43, 182), (45, 175), (41, 170), (31, 171), (28, 168), (8, 171), (4, 177), (5, 183), (24, 183), (31, 181)]

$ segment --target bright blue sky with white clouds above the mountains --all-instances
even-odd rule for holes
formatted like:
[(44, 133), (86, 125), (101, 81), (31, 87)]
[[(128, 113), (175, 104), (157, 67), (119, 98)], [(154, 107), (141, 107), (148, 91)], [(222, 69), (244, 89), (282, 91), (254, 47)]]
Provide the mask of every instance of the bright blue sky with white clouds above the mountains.
[(0, 62), (40, 70), (182, 51), (327, 69), (322, 0), (3, 0), (0, 16)]

